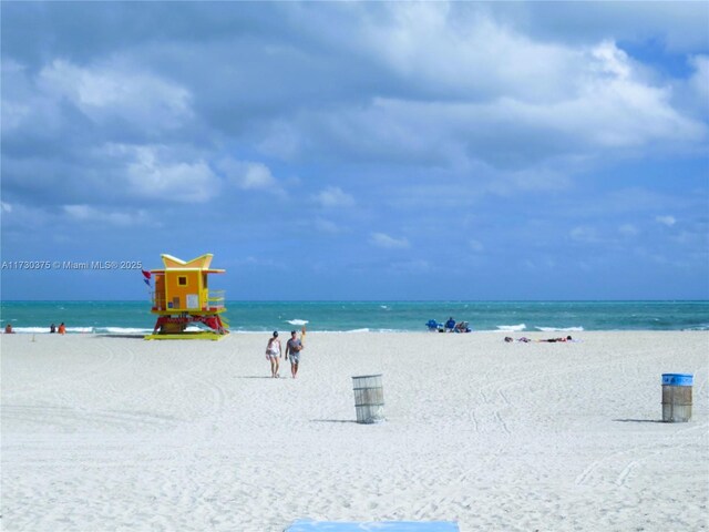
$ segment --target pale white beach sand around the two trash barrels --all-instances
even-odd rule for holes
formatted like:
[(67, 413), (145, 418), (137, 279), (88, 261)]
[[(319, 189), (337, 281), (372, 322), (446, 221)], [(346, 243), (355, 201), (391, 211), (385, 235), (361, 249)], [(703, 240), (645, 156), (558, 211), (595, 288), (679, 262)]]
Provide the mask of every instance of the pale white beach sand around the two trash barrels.
[[(268, 335), (3, 335), (2, 530), (709, 526), (709, 332), (503, 336), (310, 332), (292, 380)], [(388, 419), (357, 424), (376, 372)], [(695, 375), (690, 422), (659, 422), (664, 372)]]

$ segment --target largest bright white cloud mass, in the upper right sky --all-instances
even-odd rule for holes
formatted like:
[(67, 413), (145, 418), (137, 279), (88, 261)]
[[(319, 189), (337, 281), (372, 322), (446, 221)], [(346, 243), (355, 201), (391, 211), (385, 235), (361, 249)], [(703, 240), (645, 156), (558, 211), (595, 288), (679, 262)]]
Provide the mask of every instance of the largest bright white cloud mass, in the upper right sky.
[[(299, 150), (327, 145), (359, 158), (533, 170), (559, 157), (637, 156), (706, 141), (707, 124), (674, 104), (672, 82), (615, 41), (542, 44), (481, 14), (456, 23), (450, 9), (407, 3), (362, 30), (371, 60), (383, 58), (393, 82), (408, 90), (299, 111)], [(559, 181), (568, 167), (556, 166)]]

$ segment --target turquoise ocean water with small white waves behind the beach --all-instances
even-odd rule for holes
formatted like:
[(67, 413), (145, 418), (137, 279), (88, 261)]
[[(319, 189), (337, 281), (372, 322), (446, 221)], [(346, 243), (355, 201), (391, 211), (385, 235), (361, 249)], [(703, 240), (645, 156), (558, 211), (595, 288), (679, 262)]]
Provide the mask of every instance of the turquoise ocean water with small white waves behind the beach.
[[(473, 330), (709, 330), (709, 301), (227, 301), (233, 331), (423, 331), (449, 316)], [(155, 318), (147, 301), (2, 301), (2, 327), (49, 332), (142, 334)]]

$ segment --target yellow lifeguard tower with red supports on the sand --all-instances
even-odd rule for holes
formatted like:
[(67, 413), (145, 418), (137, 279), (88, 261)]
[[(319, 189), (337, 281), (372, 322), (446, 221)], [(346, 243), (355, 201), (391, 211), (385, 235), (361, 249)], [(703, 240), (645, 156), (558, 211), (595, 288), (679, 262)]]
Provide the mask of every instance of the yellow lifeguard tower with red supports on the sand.
[[(224, 269), (210, 268), (212, 254), (207, 253), (189, 262), (171, 255), (161, 255), (164, 269), (152, 269), (155, 291), (152, 294), (152, 313), (157, 321), (146, 340), (210, 339), (218, 340), (228, 334), (228, 324), (220, 316), (226, 310), (224, 290), (209, 291), (209, 274), (223, 274)], [(187, 331), (188, 325), (206, 326), (205, 330)]]

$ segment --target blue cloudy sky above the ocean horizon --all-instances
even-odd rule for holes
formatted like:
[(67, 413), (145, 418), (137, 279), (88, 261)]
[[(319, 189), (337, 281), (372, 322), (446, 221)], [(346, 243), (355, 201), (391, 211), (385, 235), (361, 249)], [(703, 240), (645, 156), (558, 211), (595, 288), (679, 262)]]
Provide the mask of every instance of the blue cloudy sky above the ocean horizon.
[(6, 300), (709, 299), (707, 2), (0, 9)]

